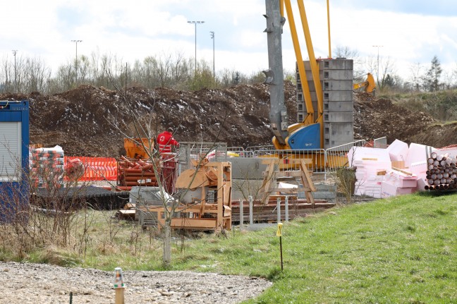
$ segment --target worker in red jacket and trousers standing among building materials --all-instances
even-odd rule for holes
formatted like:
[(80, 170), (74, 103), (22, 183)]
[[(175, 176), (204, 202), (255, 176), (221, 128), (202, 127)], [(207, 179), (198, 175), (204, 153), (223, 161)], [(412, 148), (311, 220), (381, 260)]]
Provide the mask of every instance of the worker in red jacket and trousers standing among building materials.
[(173, 138), (172, 128), (168, 128), (163, 133), (157, 135), (157, 145), (162, 157), (160, 181), (167, 193), (176, 193), (175, 182), (178, 176), (178, 158), (176, 157), (176, 154), (171, 153), (171, 146), (179, 147), (179, 142)]

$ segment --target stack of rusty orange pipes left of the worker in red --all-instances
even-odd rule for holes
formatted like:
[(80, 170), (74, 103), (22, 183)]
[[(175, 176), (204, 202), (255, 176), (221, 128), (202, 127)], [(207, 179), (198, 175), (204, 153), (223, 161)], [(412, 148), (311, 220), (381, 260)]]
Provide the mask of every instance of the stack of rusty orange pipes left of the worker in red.
[[(159, 170), (159, 166), (157, 166)], [(118, 160), (118, 186), (151, 186), (157, 187), (157, 178), (154, 174), (154, 164), (149, 160), (128, 159), (121, 157)]]

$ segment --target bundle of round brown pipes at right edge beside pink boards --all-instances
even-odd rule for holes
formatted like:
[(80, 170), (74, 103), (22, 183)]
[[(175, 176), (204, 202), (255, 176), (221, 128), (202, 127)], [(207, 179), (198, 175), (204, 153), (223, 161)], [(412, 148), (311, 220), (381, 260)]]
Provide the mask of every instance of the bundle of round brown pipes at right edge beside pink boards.
[(457, 189), (457, 159), (449, 154), (432, 152), (427, 159), (425, 190)]

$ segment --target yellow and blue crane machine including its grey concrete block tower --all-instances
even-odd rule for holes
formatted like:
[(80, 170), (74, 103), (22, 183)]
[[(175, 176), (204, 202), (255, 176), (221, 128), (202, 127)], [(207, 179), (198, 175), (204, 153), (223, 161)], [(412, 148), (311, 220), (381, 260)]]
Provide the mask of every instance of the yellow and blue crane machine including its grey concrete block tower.
[[(269, 69), (264, 74), (270, 90), (273, 145), (276, 150), (323, 150), (352, 142), (353, 61), (331, 59), (330, 32), (329, 58), (316, 59), (303, 0), (297, 3), (309, 61), (303, 61), (291, 0), (265, 1), (267, 28), (264, 32), (267, 32)], [(284, 103), (281, 34), (286, 23), (285, 13), (297, 63), (298, 108), (305, 110), (298, 115), (299, 122), (292, 125), (288, 124)], [(329, 20), (328, 1), (327, 18)]]

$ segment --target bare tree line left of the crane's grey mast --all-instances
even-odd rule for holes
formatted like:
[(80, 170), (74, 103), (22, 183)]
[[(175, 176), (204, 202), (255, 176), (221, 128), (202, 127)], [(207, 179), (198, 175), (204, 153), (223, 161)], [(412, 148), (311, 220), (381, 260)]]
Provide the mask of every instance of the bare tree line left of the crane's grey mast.
[(0, 60), (0, 92), (41, 92), (56, 94), (79, 85), (94, 85), (114, 90), (114, 83), (128, 86), (172, 87), (176, 90), (222, 88), (240, 83), (263, 81), (259, 71), (246, 75), (236, 70), (224, 69), (213, 75), (213, 68), (205, 60), (185, 58), (180, 53), (147, 56), (142, 61), (128, 64), (116, 55), (81, 55), (59, 66), (55, 73), (39, 58), (16, 55)]

